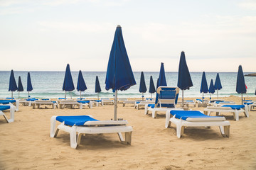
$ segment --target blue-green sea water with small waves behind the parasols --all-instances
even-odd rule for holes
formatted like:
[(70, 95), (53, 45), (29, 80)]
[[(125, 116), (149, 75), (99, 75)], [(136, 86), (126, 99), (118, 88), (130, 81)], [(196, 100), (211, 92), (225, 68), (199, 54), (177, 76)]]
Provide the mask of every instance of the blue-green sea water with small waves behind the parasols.
[[(9, 89), (9, 77), (11, 72), (9, 71), (0, 71), (0, 98), (6, 98), (11, 96), (11, 91)], [(16, 83), (18, 86), (18, 77), (21, 77), (24, 91), (20, 92), (20, 98), (28, 97), (28, 91), (26, 91), (26, 81), (27, 81), (28, 72), (14, 72)], [(58, 98), (64, 97), (65, 91), (62, 90), (63, 80), (65, 72), (30, 72), (31, 81), (33, 86), (33, 91), (30, 92), (31, 97), (36, 98)], [(72, 72), (73, 82), (75, 88), (78, 83), (78, 72)], [(135, 86), (132, 86), (127, 91), (118, 91), (119, 98), (128, 98), (134, 97), (139, 98), (142, 94), (139, 93), (139, 81), (140, 81), (140, 72), (134, 72), (134, 77), (137, 82)], [(240, 96), (235, 91), (237, 72), (220, 72), (220, 81), (223, 86), (223, 89), (219, 91), (219, 96)], [(244, 73), (248, 74), (248, 73)], [(95, 78), (99, 77), (100, 86), (102, 92), (100, 93), (100, 98), (111, 98), (113, 97), (112, 91), (105, 90), (105, 77), (106, 72), (82, 72), (82, 75), (85, 79), (85, 84), (87, 90), (82, 92), (82, 97), (85, 98), (96, 98), (97, 94), (95, 93)], [(210, 85), (210, 79), (215, 81), (217, 73), (216, 72), (206, 72), (206, 79), (208, 86)], [(147, 89), (149, 89), (149, 79), (150, 76), (154, 79), (154, 84), (156, 86), (156, 80), (159, 77), (159, 72), (144, 72), (144, 77), (146, 81)], [(184, 97), (201, 97), (200, 87), (201, 87), (201, 77), (202, 72), (191, 72), (191, 79), (193, 81), (193, 86), (191, 89), (184, 91)], [(166, 81), (168, 86), (177, 86), (178, 72), (166, 72)], [(245, 84), (247, 85), (247, 94), (244, 96), (255, 96), (256, 89), (256, 77), (245, 77)], [(67, 97), (70, 98), (70, 95), (73, 98), (80, 97), (80, 92), (76, 89), (74, 91), (67, 92)], [(145, 97), (150, 97), (151, 95), (148, 91), (144, 94)], [(153, 97), (155, 94), (153, 95)], [(210, 94), (204, 94), (206, 98), (210, 97)], [(216, 97), (217, 94), (212, 94), (212, 97)], [(14, 97), (18, 97), (18, 91), (14, 91)]]

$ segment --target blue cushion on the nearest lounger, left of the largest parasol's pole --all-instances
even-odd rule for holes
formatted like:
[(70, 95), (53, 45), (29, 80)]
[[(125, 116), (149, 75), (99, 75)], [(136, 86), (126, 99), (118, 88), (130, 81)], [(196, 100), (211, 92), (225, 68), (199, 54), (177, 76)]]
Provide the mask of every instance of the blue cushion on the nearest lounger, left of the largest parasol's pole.
[(99, 121), (94, 118), (91, 118), (88, 115), (66, 115), (66, 116), (57, 116), (56, 120), (65, 125), (84, 125), (87, 121)]

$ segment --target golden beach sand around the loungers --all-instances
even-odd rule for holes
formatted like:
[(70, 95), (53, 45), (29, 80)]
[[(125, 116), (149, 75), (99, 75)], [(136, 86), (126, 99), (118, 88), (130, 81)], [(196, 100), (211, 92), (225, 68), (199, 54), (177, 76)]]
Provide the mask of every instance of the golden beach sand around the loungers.
[[(224, 99), (240, 101), (235, 96)], [(14, 123), (0, 117), (0, 169), (256, 169), (255, 111), (250, 118), (240, 114), (239, 121), (231, 113), (222, 114), (231, 124), (229, 138), (212, 127), (186, 128), (178, 139), (175, 125), (164, 128), (165, 113), (154, 119), (151, 113), (144, 115), (144, 109), (122, 104), (117, 117), (132, 125), (132, 145), (123, 145), (117, 134), (101, 134), (82, 137), (81, 145), (72, 149), (68, 133), (49, 136), (52, 115), (88, 114), (110, 120), (113, 111), (113, 106), (82, 110), (20, 106)]]

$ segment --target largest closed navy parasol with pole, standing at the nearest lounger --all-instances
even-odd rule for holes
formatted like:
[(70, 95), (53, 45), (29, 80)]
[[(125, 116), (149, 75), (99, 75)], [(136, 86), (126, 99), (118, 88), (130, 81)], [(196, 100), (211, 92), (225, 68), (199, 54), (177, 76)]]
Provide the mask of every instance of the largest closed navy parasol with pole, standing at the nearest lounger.
[(132, 67), (129, 63), (127, 50), (122, 37), (122, 28), (117, 26), (114, 33), (114, 41), (110, 51), (110, 59), (107, 64), (105, 89), (115, 91), (114, 96), (114, 120), (117, 120), (117, 91), (127, 90), (136, 84)]

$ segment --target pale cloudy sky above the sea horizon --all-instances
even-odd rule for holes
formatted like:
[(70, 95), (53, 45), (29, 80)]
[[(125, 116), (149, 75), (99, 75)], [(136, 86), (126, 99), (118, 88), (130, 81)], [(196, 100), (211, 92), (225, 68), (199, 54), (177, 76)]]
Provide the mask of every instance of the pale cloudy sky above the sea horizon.
[(117, 25), (132, 70), (256, 72), (256, 0), (0, 0), (0, 70), (107, 70)]

